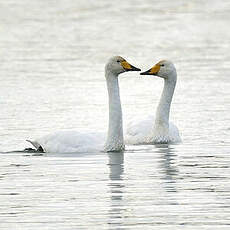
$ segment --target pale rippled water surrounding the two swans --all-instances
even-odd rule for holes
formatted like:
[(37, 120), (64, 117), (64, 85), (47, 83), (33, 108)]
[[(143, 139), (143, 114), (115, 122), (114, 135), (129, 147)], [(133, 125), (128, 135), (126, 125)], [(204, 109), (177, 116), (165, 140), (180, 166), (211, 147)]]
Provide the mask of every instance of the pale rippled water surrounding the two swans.
[[(229, 1), (2, 1), (0, 229), (229, 229)], [(107, 130), (104, 64), (172, 60), (183, 143), (120, 154), (22, 150), (56, 130)], [(124, 123), (163, 82), (120, 77)], [(95, 122), (95, 120), (97, 122)]]

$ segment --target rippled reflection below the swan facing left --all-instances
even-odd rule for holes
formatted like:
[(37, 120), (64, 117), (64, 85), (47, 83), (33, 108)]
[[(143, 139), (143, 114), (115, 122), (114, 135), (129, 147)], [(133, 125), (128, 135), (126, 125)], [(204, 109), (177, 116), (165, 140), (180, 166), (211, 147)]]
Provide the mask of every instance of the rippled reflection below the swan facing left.
[(160, 167), (163, 176), (161, 179), (164, 181), (164, 187), (167, 192), (177, 192), (176, 178), (178, 176), (178, 169), (175, 165), (177, 154), (173, 147), (167, 144), (156, 145), (157, 152), (162, 153), (160, 156)]

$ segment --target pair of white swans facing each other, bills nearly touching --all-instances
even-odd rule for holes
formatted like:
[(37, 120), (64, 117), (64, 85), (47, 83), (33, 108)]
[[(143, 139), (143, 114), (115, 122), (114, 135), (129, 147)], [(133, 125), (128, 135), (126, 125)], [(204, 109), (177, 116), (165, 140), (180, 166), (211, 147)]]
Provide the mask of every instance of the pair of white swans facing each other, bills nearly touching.
[[(40, 152), (120, 152), (125, 149), (122, 109), (118, 76), (128, 71), (140, 71), (124, 58), (115, 56), (105, 66), (105, 78), (109, 96), (109, 127), (107, 138), (103, 133), (80, 133), (61, 131), (30, 142)], [(157, 108), (155, 122), (151, 120), (131, 124), (128, 127), (126, 143), (156, 144), (180, 142), (177, 127), (169, 123), (170, 105), (176, 86), (177, 73), (172, 62), (160, 61), (141, 75), (156, 75), (164, 79), (164, 89)], [(106, 140), (106, 141), (105, 141)], [(104, 144), (105, 143), (105, 144)]]

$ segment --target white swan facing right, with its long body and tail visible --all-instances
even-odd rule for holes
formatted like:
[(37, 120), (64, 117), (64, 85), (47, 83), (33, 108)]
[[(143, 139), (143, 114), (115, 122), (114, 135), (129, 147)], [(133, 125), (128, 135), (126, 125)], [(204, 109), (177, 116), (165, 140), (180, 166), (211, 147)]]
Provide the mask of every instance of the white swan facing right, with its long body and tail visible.
[[(37, 140), (27, 140), (38, 152), (120, 152), (125, 149), (122, 126), (122, 109), (118, 75), (128, 71), (140, 71), (124, 58), (114, 56), (105, 65), (105, 79), (109, 97), (109, 127), (107, 139), (103, 133), (59, 131)], [(105, 142), (106, 139), (106, 142)], [(105, 144), (104, 144), (105, 143)]]

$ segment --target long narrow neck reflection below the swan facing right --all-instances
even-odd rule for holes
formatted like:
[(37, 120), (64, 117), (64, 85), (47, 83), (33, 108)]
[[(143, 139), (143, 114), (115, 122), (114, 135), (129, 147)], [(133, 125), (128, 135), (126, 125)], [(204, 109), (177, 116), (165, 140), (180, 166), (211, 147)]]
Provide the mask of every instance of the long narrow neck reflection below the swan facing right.
[(124, 172), (124, 153), (108, 153), (110, 169), (110, 210), (108, 224), (111, 226), (122, 226), (123, 219), (123, 178)]

